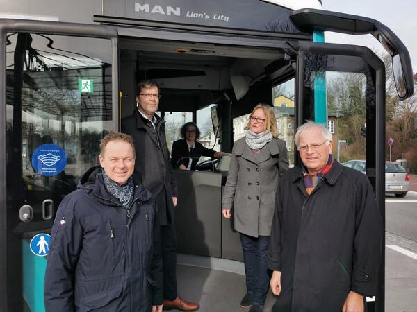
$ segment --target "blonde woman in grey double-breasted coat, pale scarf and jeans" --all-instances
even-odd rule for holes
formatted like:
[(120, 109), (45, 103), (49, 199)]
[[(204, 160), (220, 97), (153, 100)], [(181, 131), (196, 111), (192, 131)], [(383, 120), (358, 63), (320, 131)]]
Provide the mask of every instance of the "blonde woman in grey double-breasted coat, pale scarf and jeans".
[(240, 306), (262, 311), (269, 288), (266, 266), (279, 174), (288, 169), (286, 142), (278, 139), (273, 108), (258, 104), (235, 142), (222, 198), (222, 214), (240, 233), (247, 292)]

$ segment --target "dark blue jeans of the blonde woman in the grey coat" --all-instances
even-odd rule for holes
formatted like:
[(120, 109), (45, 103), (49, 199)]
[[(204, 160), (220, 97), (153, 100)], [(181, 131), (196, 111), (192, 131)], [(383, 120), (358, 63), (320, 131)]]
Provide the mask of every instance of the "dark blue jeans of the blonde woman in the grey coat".
[(269, 289), (270, 272), (266, 266), (270, 236), (252, 237), (240, 233), (245, 261), (246, 289), (253, 302), (263, 305)]

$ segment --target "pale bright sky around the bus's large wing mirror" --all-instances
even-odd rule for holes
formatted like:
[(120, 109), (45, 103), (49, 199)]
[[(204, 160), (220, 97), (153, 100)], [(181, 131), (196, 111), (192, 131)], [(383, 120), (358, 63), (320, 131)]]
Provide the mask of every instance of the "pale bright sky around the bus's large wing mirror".
[[(361, 15), (377, 19), (393, 31), (407, 46), (417, 73), (417, 1), (416, 0), (322, 0), (323, 10)], [(384, 51), (372, 35), (325, 33), (325, 42), (357, 44)], [(385, 52), (384, 52), (385, 53)]]

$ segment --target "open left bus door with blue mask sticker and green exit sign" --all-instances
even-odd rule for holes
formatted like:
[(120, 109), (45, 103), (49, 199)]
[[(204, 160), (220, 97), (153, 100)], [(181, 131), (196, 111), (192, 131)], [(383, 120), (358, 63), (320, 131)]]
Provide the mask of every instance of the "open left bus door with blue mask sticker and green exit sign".
[(117, 31), (0, 20), (0, 311), (44, 311), (54, 214), (118, 128)]

